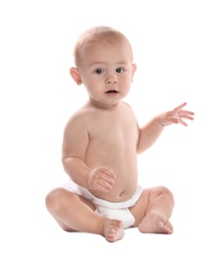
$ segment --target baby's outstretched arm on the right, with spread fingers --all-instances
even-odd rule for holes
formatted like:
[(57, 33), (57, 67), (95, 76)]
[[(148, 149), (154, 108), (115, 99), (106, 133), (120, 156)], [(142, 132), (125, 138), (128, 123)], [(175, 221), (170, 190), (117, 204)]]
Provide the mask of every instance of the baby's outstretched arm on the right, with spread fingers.
[(159, 114), (145, 126), (139, 129), (139, 139), (137, 144), (137, 153), (142, 153), (143, 151), (150, 148), (156, 140), (161, 135), (165, 126), (170, 124), (181, 123), (185, 126), (188, 124), (184, 119), (193, 120), (192, 115), (194, 114), (191, 111), (182, 109), (187, 103), (183, 103), (175, 107), (172, 111), (167, 111)]

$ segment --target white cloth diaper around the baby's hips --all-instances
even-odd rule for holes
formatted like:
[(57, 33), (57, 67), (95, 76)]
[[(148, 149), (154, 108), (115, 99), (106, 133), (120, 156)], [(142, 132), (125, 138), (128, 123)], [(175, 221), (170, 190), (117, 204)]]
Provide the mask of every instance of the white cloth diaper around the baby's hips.
[(81, 195), (83, 198), (90, 201), (95, 206), (96, 213), (109, 219), (116, 219), (122, 221), (124, 223), (124, 228), (131, 227), (133, 224), (135, 224), (135, 218), (130, 212), (129, 208), (136, 204), (136, 201), (138, 200), (143, 190), (141, 186), (138, 185), (136, 187), (136, 192), (131, 199), (121, 203), (112, 203), (94, 197), (87, 189), (79, 186), (71, 179), (66, 182), (63, 187), (69, 191)]

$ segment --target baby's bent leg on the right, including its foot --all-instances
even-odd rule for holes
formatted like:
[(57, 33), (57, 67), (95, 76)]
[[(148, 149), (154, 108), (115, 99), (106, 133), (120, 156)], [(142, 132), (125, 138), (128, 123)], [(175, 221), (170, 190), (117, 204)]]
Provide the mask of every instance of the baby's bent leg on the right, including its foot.
[(172, 193), (165, 187), (146, 189), (131, 209), (136, 226), (144, 233), (172, 233), (169, 222), (174, 208)]

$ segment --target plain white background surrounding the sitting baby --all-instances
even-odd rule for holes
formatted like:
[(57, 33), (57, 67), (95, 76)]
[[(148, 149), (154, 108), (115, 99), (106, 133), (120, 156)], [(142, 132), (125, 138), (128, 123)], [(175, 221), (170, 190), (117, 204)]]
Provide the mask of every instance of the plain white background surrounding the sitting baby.
[[(216, 1), (0, 2), (1, 255), (216, 255)], [(138, 157), (139, 183), (165, 185), (176, 207), (172, 235), (126, 230), (122, 241), (66, 233), (47, 213), (47, 192), (68, 178), (65, 124), (86, 100), (69, 69), (76, 39), (107, 25), (132, 42), (137, 72), (126, 98), (144, 124), (188, 102), (189, 127), (166, 128)]]

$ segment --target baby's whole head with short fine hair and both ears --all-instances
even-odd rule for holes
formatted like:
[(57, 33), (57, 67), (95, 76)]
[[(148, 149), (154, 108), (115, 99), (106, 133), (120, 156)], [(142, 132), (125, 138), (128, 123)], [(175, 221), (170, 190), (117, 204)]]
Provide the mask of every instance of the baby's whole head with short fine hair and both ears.
[(90, 101), (107, 107), (120, 102), (131, 89), (136, 64), (127, 37), (109, 27), (94, 27), (81, 34), (70, 70), (77, 85), (84, 85)]

